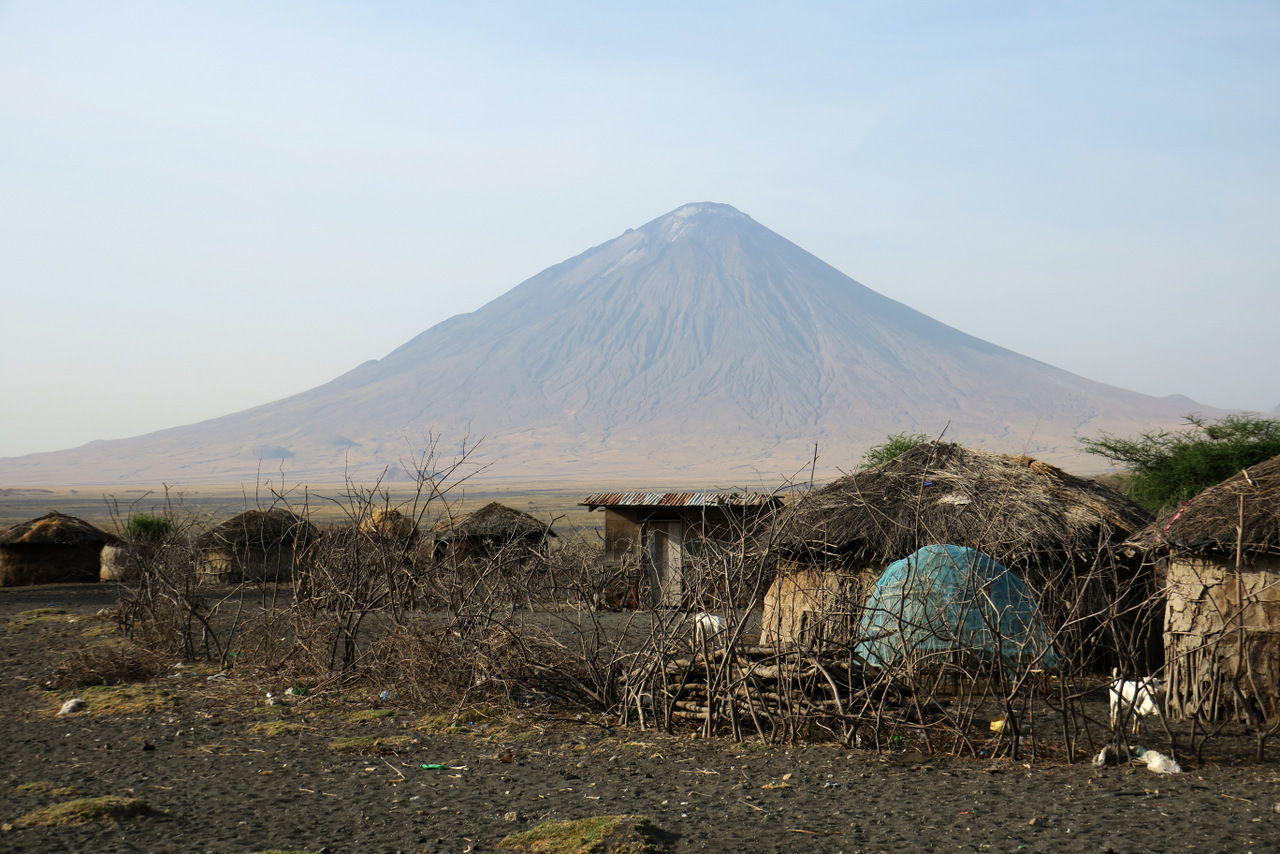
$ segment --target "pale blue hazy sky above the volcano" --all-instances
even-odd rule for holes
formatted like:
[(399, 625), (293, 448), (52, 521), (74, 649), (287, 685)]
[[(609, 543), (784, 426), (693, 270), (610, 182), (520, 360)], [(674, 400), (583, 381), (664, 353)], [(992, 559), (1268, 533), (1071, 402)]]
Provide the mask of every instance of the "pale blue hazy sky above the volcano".
[(1271, 410), (1277, 109), (1275, 3), (0, 0), (0, 456), (305, 391), (691, 201)]

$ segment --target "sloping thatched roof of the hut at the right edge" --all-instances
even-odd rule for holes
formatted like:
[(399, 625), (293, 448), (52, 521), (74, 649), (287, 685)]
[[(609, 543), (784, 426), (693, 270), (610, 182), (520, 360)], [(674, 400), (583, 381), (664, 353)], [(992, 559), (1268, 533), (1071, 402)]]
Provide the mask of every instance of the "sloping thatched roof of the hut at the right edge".
[(1280, 554), (1280, 457), (1251, 466), (1167, 511), (1130, 542), (1144, 549), (1235, 554), (1240, 498), (1247, 554)]

